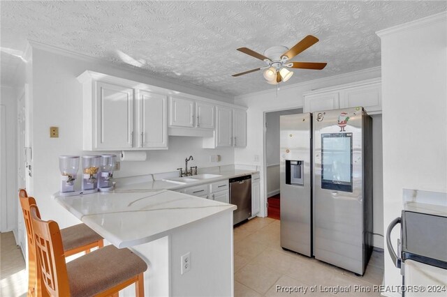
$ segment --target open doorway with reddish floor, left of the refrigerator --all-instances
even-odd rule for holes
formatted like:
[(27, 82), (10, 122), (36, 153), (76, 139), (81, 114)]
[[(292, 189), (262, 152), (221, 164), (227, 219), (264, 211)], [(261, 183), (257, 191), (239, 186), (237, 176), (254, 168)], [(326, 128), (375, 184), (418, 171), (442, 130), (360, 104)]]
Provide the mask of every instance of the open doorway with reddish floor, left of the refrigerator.
[(280, 220), (281, 193), (279, 184), (279, 117), (286, 114), (302, 114), (302, 108), (264, 112), (264, 172), (267, 216)]

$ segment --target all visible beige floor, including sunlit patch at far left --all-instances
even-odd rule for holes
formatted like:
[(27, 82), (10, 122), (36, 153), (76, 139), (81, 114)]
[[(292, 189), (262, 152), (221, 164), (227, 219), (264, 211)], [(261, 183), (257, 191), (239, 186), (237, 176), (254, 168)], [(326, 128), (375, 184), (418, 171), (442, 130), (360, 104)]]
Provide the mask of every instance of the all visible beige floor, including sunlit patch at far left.
[[(282, 250), (279, 245), (279, 220), (254, 218), (234, 230), (235, 297), (250, 296), (379, 296), (354, 292), (354, 286), (372, 288), (381, 284), (383, 252), (374, 251), (363, 277), (349, 271)], [(277, 291), (277, 286), (317, 291)], [(331, 294), (320, 287), (352, 286), (351, 292)], [(15, 245), (13, 232), (1, 234), (0, 296), (26, 296), (27, 273), (22, 254)]]

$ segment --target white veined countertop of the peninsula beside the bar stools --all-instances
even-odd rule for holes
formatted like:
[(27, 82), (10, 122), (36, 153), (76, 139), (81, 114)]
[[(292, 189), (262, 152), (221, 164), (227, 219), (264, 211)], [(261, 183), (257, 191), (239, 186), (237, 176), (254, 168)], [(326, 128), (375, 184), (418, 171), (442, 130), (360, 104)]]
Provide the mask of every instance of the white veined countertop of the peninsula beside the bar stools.
[[(148, 243), (236, 206), (170, 190), (154, 190), (166, 182), (142, 188), (117, 189), (80, 196), (54, 195), (61, 206), (117, 248)], [(135, 185), (134, 185), (135, 186)]]

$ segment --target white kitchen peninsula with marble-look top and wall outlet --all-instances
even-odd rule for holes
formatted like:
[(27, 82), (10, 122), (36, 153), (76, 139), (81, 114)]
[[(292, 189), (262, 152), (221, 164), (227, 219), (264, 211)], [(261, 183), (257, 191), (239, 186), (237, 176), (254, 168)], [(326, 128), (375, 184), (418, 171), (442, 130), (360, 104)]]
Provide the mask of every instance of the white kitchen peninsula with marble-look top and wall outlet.
[[(233, 296), (236, 206), (154, 190), (154, 183), (54, 199), (106, 243), (129, 247), (146, 261), (145, 296)], [(188, 253), (191, 269), (182, 273)], [(131, 286), (119, 296), (134, 294)]]

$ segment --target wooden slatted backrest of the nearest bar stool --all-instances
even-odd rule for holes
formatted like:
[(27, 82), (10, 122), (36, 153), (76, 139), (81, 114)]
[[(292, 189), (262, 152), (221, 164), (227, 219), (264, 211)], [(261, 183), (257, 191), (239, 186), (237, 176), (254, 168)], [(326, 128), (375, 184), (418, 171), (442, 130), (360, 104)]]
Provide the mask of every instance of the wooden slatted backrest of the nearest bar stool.
[(51, 296), (70, 296), (61, 231), (57, 222), (43, 221), (36, 205), (30, 206), (36, 245), (38, 275)]

